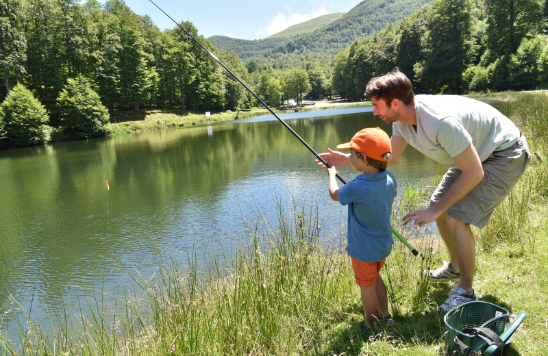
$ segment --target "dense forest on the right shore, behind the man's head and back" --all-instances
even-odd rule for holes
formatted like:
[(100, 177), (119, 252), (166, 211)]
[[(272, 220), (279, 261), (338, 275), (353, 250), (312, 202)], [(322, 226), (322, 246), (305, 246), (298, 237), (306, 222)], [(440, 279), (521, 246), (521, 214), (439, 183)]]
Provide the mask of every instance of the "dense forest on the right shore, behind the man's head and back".
[(416, 92), (548, 88), (547, 1), (436, 0), (336, 55), (332, 90), (361, 99), (394, 67)]

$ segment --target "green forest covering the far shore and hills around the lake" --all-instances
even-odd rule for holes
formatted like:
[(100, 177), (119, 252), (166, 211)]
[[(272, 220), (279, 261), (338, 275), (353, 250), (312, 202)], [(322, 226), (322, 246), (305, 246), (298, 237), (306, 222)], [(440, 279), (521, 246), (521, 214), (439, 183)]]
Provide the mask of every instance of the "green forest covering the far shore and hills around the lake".
[[(367, 81), (396, 66), (417, 92), (548, 86), (547, 0), (436, 0), (397, 24), (363, 30), (364, 9), (379, 17), (371, 9), (392, 14), (402, 3), (363, 1), (277, 47), (251, 43), (249, 51), (262, 54), (245, 62), (199, 36), (192, 23), (180, 25), (272, 107), (305, 95), (362, 100)], [(121, 110), (258, 105), (181, 29), (160, 31), (123, 0), (0, 0), (0, 66), (1, 148), (105, 136)]]

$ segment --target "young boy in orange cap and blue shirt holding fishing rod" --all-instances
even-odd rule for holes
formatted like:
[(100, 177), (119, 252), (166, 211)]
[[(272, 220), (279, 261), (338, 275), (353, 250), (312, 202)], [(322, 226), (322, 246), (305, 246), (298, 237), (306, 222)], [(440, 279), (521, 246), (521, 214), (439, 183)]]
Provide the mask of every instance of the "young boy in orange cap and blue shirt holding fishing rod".
[(390, 214), (396, 196), (396, 179), (386, 170), (392, 151), (390, 138), (378, 127), (362, 129), (337, 149), (350, 149), (352, 168), (362, 173), (338, 188), (336, 168), (327, 168), (331, 198), (348, 205), (347, 253), (356, 284), (360, 285), (365, 314), (361, 326), (371, 329), (376, 320), (392, 324), (386, 286), (379, 275), (393, 245)]

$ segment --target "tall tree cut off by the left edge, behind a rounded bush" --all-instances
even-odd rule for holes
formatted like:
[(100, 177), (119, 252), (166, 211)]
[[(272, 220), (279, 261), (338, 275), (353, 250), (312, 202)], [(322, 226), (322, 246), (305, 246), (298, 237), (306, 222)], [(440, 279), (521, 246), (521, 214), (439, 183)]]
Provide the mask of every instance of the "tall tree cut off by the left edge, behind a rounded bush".
[[(0, 66), (5, 84), (5, 94), (10, 92), (12, 78), (25, 73), (27, 40), (21, 31), (18, 14), (21, 3), (18, 0), (0, 0)], [(0, 99), (4, 96), (1, 94)]]

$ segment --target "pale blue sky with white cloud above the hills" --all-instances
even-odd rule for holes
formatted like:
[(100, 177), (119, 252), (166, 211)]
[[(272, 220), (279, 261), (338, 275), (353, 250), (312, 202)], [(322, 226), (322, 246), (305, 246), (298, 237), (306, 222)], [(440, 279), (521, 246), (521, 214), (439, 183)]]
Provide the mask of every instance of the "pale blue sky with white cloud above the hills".
[[(221, 35), (255, 40), (291, 25), (333, 12), (349, 12), (361, 0), (153, 0), (175, 21), (190, 21), (206, 38)], [(160, 29), (175, 24), (149, 0), (125, 0), (138, 15), (149, 15)]]

